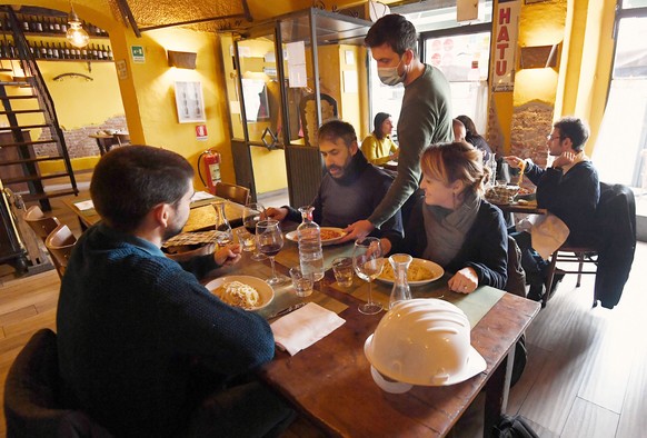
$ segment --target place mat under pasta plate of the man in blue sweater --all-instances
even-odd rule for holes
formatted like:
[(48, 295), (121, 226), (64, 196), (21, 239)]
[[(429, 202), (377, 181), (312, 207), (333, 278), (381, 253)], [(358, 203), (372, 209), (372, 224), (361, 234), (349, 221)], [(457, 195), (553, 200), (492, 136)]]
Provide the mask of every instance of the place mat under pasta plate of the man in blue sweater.
[[(248, 256), (243, 256), (243, 257), (248, 257)], [(242, 265), (242, 263), (239, 263)], [(258, 277), (258, 278), (262, 278), (262, 279), (267, 279), (271, 277), (272, 270), (271, 267), (263, 263), (263, 262), (250, 262), (250, 263), (245, 263), (243, 266), (235, 266), (236, 269), (231, 269), (229, 272), (222, 272), (221, 276), (227, 276), (227, 275), (237, 275), (237, 276), (252, 276), (252, 277)], [(278, 270), (277, 270), (278, 272)], [(288, 279), (288, 281), (286, 281), (283, 285), (278, 285), (278, 286), (272, 286), (273, 290), (275, 290), (275, 299), (272, 300), (272, 302), (269, 303), (269, 306), (259, 309), (259, 310), (255, 310), (256, 313), (262, 316), (263, 318), (267, 318), (269, 315), (272, 315), (279, 310), (282, 310), (287, 307), (290, 307), (292, 305), (296, 305), (298, 302), (316, 302), (319, 306), (331, 310), (336, 313), (340, 313), (344, 310), (346, 310), (348, 308), (348, 306), (346, 306), (345, 303), (336, 300), (335, 298), (331, 298), (329, 296), (327, 296), (326, 293), (322, 293), (318, 290), (313, 290), (312, 295), (310, 295), (309, 297), (297, 297), (297, 295), (295, 293), (295, 287), (292, 286), (291, 280)]]

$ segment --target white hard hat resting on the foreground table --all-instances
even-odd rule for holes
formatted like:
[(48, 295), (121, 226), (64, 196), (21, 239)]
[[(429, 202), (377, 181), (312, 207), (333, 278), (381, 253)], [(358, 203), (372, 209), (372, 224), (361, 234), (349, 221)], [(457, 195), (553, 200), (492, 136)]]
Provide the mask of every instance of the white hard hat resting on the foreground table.
[(454, 385), (486, 369), (469, 332), (467, 316), (450, 302), (399, 301), (368, 337), (364, 351), (374, 380), (388, 392), (405, 392), (412, 385)]

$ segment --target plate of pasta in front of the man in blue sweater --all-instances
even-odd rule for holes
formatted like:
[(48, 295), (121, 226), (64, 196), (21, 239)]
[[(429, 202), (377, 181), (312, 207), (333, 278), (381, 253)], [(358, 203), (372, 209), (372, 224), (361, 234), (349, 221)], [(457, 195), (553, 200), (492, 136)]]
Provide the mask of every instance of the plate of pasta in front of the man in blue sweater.
[(227, 276), (209, 281), (207, 289), (229, 306), (258, 310), (275, 299), (275, 290), (260, 278)]

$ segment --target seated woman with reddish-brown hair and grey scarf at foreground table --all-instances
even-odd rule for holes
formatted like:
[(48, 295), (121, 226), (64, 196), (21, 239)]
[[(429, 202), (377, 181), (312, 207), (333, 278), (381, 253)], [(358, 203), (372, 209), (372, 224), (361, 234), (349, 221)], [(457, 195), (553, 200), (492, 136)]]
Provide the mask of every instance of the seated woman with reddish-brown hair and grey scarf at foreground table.
[(416, 200), (404, 241), (387, 242), (385, 251), (437, 262), (452, 275), (448, 286), (456, 292), (504, 289), (508, 236), (501, 211), (484, 199), (489, 169), (480, 152), (465, 141), (434, 145), (420, 167), (425, 196)]

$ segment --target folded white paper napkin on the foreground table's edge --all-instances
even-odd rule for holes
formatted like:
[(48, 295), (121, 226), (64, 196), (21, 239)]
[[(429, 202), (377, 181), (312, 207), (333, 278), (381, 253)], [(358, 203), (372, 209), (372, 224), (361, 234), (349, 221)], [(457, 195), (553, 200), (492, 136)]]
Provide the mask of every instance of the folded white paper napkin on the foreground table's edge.
[(275, 341), (290, 356), (310, 347), (340, 327), (345, 319), (315, 302), (308, 302), (271, 323)]

